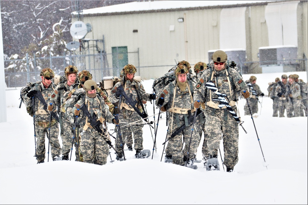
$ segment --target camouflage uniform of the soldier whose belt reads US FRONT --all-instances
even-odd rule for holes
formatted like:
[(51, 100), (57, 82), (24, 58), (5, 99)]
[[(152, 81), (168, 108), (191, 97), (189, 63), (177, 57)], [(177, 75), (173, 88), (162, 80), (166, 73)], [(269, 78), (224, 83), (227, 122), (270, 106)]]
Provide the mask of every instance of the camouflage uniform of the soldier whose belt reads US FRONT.
[[(184, 66), (185, 67), (185, 66)], [(180, 67), (181, 68), (181, 67)], [(186, 67), (185, 67), (186, 68)], [(187, 68), (186, 68), (187, 69)], [(194, 153), (197, 150), (199, 135), (195, 125), (188, 126), (187, 118), (188, 113), (177, 113), (178, 110), (187, 110), (186, 112), (191, 112), (193, 110), (193, 87), (195, 83), (187, 79), (185, 90), (181, 91), (178, 78), (175, 81), (170, 82), (166, 85), (163, 91), (160, 93), (160, 97), (164, 98), (164, 103), (162, 104), (162, 108), (168, 108), (168, 133), (167, 138), (169, 139), (176, 130), (178, 130), (181, 126), (186, 124), (186, 127), (178, 133), (176, 136), (168, 140), (168, 144), (166, 147), (166, 157), (172, 156), (172, 163), (184, 165), (186, 159), (191, 160), (194, 158)], [(187, 86), (188, 85), (188, 86)], [(174, 98), (174, 101), (173, 101)], [(158, 101), (155, 101), (156, 106), (159, 106)], [(173, 107), (172, 107), (173, 106)], [(194, 112), (192, 113), (192, 115)], [(185, 121), (187, 123), (185, 123)], [(193, 132), (192, 132), (193, 130)], [(185, 142), (185, 147), (183, 149), (183, 141)], [(189, 147), (189, 142), (190, 147)], [(188, 148), (190, 152), (188, 153)], [(187, 153), (189, 156), (187, 156)], [(190, 154), (191, 153), (191, 154)]]

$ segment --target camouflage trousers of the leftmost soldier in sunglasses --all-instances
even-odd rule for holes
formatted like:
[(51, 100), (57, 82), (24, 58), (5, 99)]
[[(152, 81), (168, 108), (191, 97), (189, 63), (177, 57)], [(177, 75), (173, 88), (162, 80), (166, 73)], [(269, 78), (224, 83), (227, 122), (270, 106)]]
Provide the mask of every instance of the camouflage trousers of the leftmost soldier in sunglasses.
[[(48, 122), (49, 123), (49, 122)], [(36, 136), (36, 159), (37, 161), (45, 160), (45, 137), (49, 139), (51, 148), (51, 158), (59, 157), (61, 154), (61, 146), (59, 142), (59, 123), (51, 126), (50, 137), (49, 137), (49, 127), (42, 127), (39, 125), (41, 123), (35, 122), (35, 136)], [(47, 142), (48, 143), (48, 142)]]

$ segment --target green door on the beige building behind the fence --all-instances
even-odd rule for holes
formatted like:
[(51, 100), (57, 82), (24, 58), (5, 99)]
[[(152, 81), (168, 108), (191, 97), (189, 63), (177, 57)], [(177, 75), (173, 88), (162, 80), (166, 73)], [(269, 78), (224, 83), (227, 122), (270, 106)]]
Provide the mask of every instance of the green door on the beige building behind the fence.
[(127, 46), (111, 47), (113, 76), (120, 76), (120, 72), (128, 64)]

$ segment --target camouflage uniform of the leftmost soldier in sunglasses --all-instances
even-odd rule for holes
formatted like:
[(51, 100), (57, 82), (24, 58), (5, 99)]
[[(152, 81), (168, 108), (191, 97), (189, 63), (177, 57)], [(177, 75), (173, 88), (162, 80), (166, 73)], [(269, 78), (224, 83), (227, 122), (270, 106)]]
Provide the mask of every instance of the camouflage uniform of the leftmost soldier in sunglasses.
[[(49, 100), (51, 93), (55, 89), (55, 85), (53, 83), (50, 84), (48, 88), (45, 88), (42, 81), (35, 82), (38, 86), (39, 90), (41, 91), (45, 102)], [(31, 90), (33, 90), (32, 88)], [(29, 93), (31, 92), (29, 91)], [(24, 96), (24, 101), (27, 103), (32, 104), (32, 98), (28, 97), (27, 95)], [(35, 126), (35, 136), (36, 140), (36, 159), (38, 163), (43, 162), (45, 160), (45, 136), (49, 138), (50, 147), (51, 147), (51, 158), (55, 160), (56, 157), (59, 157), (61, 154), (61, 146), (59, 143), (59, 123), (52, 118), (51, 120), (51, 128), (50, 128), (50, 137), (49, 137), (49, 112), (44, 110), (43, 104), (34, 97), (34, 126)]]

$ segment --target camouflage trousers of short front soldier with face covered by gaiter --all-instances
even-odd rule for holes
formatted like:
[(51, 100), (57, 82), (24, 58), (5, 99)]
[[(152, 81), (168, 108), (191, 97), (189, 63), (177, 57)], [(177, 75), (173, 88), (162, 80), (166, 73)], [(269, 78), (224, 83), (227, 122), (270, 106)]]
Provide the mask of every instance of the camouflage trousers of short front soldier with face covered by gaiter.
[[(106, 136), (106, 130), (104, 128), (102, 130)], [(82, 128), (79, 132), (82, 132)], [(80, 153), (83, 155), (83, 162), (104, 165), (107, 163), (109, 145), (94, 128), (87, 128), (81, 136)]]

